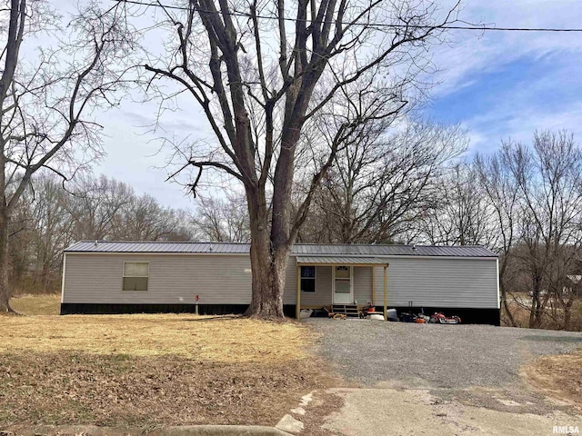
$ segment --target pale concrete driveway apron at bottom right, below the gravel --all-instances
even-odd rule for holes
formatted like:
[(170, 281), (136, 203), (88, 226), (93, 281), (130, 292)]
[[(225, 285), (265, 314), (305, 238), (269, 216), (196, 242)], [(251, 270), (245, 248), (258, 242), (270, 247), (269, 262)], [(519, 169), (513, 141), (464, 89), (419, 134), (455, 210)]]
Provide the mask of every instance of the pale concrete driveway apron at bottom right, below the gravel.
[(556, 426), (582, 430), (582, 417), (563, 411), (545, 415), (490, 410), (457, 401), (440, 401), (430, 391), (336, 389), (344, 407), (323, 425), (341, 436), (531, 436), (551, 435)]

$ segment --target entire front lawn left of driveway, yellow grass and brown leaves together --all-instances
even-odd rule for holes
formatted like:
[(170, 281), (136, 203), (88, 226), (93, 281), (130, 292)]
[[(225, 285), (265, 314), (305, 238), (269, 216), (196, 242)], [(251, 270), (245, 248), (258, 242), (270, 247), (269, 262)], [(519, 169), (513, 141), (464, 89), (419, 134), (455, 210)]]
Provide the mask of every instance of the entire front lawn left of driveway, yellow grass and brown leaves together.
[[(14, 305), (40, 312), (51, 298), (25, 297)], [(296, 322), (32, 315), (0, 316), (0, 329), (0, 430), (274, 425), (302, 395), (331, 382), (308, 352), (311, 331)]]

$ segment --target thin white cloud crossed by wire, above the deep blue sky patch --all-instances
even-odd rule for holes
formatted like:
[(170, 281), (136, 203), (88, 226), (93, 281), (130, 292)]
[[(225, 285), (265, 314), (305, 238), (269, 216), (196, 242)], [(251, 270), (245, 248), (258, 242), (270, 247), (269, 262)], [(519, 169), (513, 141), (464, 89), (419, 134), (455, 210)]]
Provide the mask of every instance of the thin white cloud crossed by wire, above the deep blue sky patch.
[[(446, 7), (443, 5), (443, 7)], [(582, 2), (578, 0), (473, 0), (460, 18), (497, 27), (579, 27)], [(472, 83), (475, 74), (496, 71), (522, 57), (539, 59), (547, 54), (582, 54), (580, 33), (451, 31), (451, 45), (435, 47), (434, 62), (441, 82), (435, 97)], [(579, 68), (579, 64), (577, 65)], [(576, 71), (576, 70), (575, 70)]]

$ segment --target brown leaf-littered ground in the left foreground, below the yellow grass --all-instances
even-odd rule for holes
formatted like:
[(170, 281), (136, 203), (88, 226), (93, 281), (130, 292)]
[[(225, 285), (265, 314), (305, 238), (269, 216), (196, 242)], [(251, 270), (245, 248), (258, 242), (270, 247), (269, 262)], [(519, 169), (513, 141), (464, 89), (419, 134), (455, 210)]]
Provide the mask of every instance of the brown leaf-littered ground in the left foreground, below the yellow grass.
[(316, 359), (260, 364), (177, 356), (3, 353), (0, 428), (11, 430), (9, 423), (272, 426), (306, 391), (332, 382), (321, 365)]

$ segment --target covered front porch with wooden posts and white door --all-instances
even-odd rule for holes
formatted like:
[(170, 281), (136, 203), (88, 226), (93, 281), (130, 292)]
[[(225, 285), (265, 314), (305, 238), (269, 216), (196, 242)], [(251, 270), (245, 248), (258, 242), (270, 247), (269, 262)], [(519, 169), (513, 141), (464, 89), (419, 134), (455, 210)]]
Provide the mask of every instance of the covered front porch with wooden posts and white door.
[[(370, 303), (382, 304), (387, 316), (387, 269), (385, 259), (356, 256), (296, 257), (296, 319), (302, 309), (349, 306), (358, 310)], [(382, 274), (383, 301), (377, 302), (376, 276)]]

